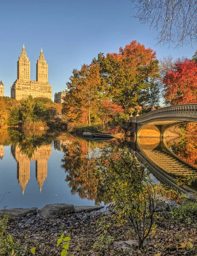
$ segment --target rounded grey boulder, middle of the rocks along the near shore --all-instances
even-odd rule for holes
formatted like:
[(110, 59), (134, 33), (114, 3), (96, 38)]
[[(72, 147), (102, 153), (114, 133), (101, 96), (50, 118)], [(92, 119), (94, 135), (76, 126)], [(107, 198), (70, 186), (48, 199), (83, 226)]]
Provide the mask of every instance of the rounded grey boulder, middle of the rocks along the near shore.
[(39, 214), (46, 219), (55, 218), (59, 215), (70, 213), (73, 211), (73, 204), (46, 204), (43, 208), (38, 210)]

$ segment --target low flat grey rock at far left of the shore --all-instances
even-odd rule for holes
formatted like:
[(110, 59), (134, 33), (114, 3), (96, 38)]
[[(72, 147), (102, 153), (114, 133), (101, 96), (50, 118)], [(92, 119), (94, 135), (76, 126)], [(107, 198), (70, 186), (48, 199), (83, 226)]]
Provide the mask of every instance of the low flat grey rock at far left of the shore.
[(32, 208), (13, 208), (13, 209), (0, 209), (0, 215), (8, 213), (10, 216), (14, 217), (25, 217), (37, 214), (37, 207)]

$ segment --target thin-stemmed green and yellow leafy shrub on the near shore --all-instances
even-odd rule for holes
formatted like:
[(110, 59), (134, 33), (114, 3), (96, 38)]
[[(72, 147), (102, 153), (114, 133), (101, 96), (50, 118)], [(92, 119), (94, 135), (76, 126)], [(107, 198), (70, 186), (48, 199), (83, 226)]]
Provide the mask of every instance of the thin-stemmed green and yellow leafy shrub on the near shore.
[[(139, 247), (154, 228), (156, 207), (161, 198), (180, 200), (178, 190), (162, 184), (152, 184), (144, 168), (129, 152), (110, 155), (106, 150), (99, 163), (103, 186), (111, 193), (119, 220), (130, 222), (137, 237)], [(191, 180), (177, 178), (177, 185), (185, 186)]]

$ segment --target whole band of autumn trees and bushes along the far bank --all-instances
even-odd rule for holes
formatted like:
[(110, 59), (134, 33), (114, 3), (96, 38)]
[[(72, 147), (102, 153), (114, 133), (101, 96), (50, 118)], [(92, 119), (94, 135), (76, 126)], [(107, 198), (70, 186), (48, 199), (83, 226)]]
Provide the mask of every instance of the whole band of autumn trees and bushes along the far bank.
[[(0, 126), (21, 131), (65, 130), (124, 133), (129, 116), (165, 105), (197, 102), (197, 52), (191, 59), (156, 52), (132, 41), (119, 52), (99, 53), (90, 64), (73, 69), (63, 104), (35, 98), (0, 97)], [(186, 86), (185, 86), (186, 84)]]

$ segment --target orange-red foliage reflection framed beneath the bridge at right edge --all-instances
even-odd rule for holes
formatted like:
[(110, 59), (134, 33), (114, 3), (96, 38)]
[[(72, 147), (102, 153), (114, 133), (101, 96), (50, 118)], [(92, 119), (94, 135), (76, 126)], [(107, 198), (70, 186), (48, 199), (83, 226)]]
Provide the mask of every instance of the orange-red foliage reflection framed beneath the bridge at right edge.
[(179, 140), (170, 140), (167, 145), (185, 162), (197, 166), (197, 124), (184, 125)]

